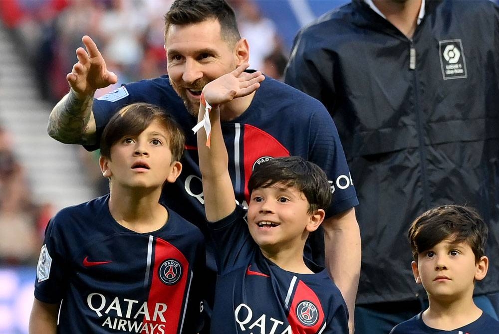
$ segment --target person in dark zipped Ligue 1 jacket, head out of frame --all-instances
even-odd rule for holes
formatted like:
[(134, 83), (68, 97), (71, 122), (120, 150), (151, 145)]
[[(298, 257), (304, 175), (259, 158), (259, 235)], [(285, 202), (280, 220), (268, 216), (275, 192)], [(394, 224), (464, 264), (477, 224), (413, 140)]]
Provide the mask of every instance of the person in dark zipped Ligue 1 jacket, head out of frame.
[[(430, 207), (476, 207), (499, 252), (497, 4), (353, 0), (298, 33), (284, 81), (326, 106), (358, 192), (357, 333), (425, 307), (405, 236)], [(490, 313), (498, 275), (496, 261), (475, 290)]]

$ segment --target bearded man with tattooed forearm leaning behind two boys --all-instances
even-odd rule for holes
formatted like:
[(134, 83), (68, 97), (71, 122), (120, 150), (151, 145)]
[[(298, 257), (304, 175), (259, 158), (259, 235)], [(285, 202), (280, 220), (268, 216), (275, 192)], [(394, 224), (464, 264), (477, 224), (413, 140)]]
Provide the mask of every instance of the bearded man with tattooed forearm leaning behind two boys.
[[(96, 149), (103, 127), (123, 105), (143, 101), (170, 111), (186, 134), (186, 153), (182, 174), (163, 189), (165, 194), (180, 194), (162, 200), (208, 236), (197, 141), (191, 129), (197, 123), (203, 87), (248, 62), (249, 45), (224, 0), (176, 0), (165, 23), (168, 76), (126, 84), (99, 99), (93, 99), (95, 90), (116, 83), (117, 77), (107, 70), (95, 43), (84, 36), (86, 50), (76, 50), (78, 62), (67, 75), (71, 90), (52, 110), (48, 132), (63, 143)], [(360, 273), (360, 234), (354, 211), (358, 201), (327, 110), (317, 100), (267, 77), (256, 92), (222, 106), (221, 120), (229, 172), (236, 199), (243, 205), (249, 200), (252, 169), (272, 158), (301, 156), (326, 172), (333, 200), (323, 233), (310, 239), (308, 255), (326, 265), (353, 316)], [(216, 272), (211, 247), (208, 239), (207, 265), (213, 275), (207, 277), (207, 292), (213, 291)]]

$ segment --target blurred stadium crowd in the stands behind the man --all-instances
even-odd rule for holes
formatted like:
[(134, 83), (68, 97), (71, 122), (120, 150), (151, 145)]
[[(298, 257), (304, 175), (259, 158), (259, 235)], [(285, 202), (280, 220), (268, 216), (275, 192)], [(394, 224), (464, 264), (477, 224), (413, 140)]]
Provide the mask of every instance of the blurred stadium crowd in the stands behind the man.
[[(108, 68), (121, 83), (166, 73), (163, 15), (172, 0), (2, 0), (3, 25), (35, 74), (43, 100), (55, 104), (68, 91), (66, 74), (76, 61), (81, 37), (90, 35), (103, 52)], [(251, 67), (280, 79), (288, 50), (273, 20), (262, 15), (258, 1), (229, 1), (238, 15), (241, 34), (251, 46)], [(47, 115), (48, 117), (48, 115)], [(16, 161), (9, 134), (0, 130), (0, 265), (34, 265), (48, 219), (49, 203), (35, 203), (23, 167)], [(108, 190), (97, 156), (81, 149), (95, 193)]]

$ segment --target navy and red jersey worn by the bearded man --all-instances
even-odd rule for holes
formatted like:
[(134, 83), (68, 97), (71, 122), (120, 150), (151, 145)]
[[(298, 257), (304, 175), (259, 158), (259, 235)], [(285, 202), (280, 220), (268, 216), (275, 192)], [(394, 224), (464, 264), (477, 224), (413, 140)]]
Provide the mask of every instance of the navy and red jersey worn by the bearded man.
[[(108, 120), (122, 106), (144, 101), (172, 113), (186, 135), (187, 150), (182, 159), (182, 173), (175, 183), (166, 184), (164, 188), (164, 193), (175, 195), (167, 195), (163, 199), (168, 207), (188, 221), (204, 222), (205, 200), (197, 138), (191, 130), (197, 119), (187, 112), (168, 76), (127, 84), (94, 100), (97, 134), (100, 137)], [(329, 113), (318, 100), (266, 77), (260, 83), (250, 107), (235, 120), (222, 123), (222, 132), (229, 153), (229, 172), (236, 199), (244, 206), (249, 200), (247, 185), (253, 167), (269, 159), (286, 156), (300, 156), (326, 172), (333, 192), (327, 216), (358, 204), (338, 132)], [(209, 235), (204, 223), (198, 227)], [(320, 232), (315, 235), (319, 240), (314, 261), (322, 265), (323, 240), (320, 240)], [(207, 248), (207, 265), (215, 271), (210, 240)]]

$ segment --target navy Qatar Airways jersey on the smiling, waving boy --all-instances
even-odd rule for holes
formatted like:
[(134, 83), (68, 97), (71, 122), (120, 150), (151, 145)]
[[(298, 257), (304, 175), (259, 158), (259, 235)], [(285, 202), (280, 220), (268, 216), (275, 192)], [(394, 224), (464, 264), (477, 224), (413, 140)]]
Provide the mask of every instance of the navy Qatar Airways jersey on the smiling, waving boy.
[(324, 268), (314, 274), (285, 271), (267, 260), (251, 238), (237, 207), (210, 223), (219, 276), (211, 333), (345, 334), (348, 313)]

